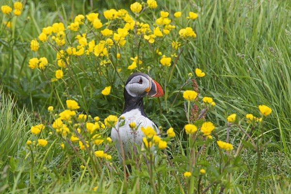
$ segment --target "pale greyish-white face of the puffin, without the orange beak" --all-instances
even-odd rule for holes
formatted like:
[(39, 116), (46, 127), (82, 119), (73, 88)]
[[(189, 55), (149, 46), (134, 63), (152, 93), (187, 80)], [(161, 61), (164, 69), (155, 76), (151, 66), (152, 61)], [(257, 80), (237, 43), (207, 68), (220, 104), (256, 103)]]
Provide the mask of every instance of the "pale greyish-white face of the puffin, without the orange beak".
[(151, 88), (151, 82), (149, 79), (149, 77), (146, 78), (145, 76), (137, 75), (128, 82), (125, 89), (132, 97), (144, 97)]

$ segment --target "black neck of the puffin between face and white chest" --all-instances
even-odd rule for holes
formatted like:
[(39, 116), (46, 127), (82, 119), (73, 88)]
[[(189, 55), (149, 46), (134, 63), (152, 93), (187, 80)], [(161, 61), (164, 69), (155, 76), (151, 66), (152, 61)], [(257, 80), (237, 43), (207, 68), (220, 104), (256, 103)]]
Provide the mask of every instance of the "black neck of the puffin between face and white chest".
[(144, 109), (143, 98), (144, 97), (132, 97), (126, 89), (124, 89), (124, 109), (122, 113), (124, 114), (131, 110), (138, 109), (143, 116), (147, 117)]

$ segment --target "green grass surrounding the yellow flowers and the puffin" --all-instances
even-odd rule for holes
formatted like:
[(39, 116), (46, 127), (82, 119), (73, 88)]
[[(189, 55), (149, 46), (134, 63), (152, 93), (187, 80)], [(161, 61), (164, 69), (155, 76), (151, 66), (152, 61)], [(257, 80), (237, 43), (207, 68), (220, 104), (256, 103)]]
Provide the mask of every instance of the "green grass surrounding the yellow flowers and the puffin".
[[(28, 59), (35, 57), (29, 48), (19, 49), (18, 47), (17, 49), (4, 44), (7, 37), (10, 40), (30, 41), (37, 37), (45, 26), (59, 20), (72, 21), (74, 16), (91, 11), (88, 8), (90, 1), (65, 2), (68, 2), (67, 9), (62, 11), (60, 9), (55, 11), (55, 8), (44, 11), (40, 9), (40, 4), (36, 4), (35, 9), (25, 11), (21, 17), (17, 18), (16, 33), (10, 34), (7, 30), (0, 32), (0, 82), (3, 87), (0, 92), (0, 182), (3, 183), (0, 184), (1, 193), (83, 193), (92, 191), (94, 180), (85, 176), (80, 181), (82, 171), (79, 171), (76, 163), (68, 164), (70, 169), (64, 176), (58, 177), (60, 176), (57, 173), (58, 168), (64, 167), (66, 162), (60, 147), (49, 152), (45, 166), (50, 168), (50, 171), (40, 169), (35, 176), (35, 185), (29, 186), (30, 162), (24, 160), (27, 152), (22, 150), (30, 135), (30, 127), (40, 122), (49, 124), (48, 115), (43, 116), (47, 114), (47, 107), (54, 105), (59, 108), (61, 104), (49, 86), (40, 85), (40, 83), (44, 83), (45, 78), (28, 68)], [(28, 1), (28, 3), (32, 5), (32, 1)], [(174, 67), (172, 79), (167, 83), (167, 104), (165, 99), (161, 99), (163, 116), (157, 113), (160, 111), (156, 106), (157, 101), (149, 99), (145, 100), (147, 115), (155, 118), (153, 120), (165, 129), (172, 125), (178, 131), (182, 130), (181, 126), (184, 126), (186, 121), (182, 95), (178, 96), (177, 102), (169, 111), (166, 111), (166, 107), (168, 108), (169, 104), (173, 102), (180, 87), (188, 79), (188, 73), (194, 74), (194, 69), (199, 67), (207, 74), (198, 81), (203, 92), (202, 96), (213, 97), (217, 104), (216, 109), (208, 115), (208, 118), (214, 123), (224, 125), (226, 116), (231, 113), (237, 113), (239, 117), (245, 116), (246, 113), (254, 113), (255, 116), (259, 116), (258, 105), (261, 104), (272, 108), (273, 112), (265, 123), (264, 139), (265, 142), (270, 141), (273, 146), (265, 148), (262, 153), (258, 189), (261, 193), (290, 192), (290, 2), (248, 0), (242, 1), (244, 7), (241, 9), (236, 9), (231, 3), (229, 6), (225, 5), (222, 10), (215, 9), (210, 1), (180, 0), (161, 1), (161, 3), (170, 13), (176, 11), (181, 11), (183, 14), (189, 11), (197, 12), (199, 17), (192, 26), (197, 33), (197, 38), (186, 46)], [(95, 4), (92, 10), (101, 13), (106, 9), (106, 5), (102, 4), (101, 8)], [(141, 19), (153, 20), (152, 16), (147, 15), (141, 16)], [(183, 18), (183, 20), (186, 19)], [(168, 45), (163, 45), (161, 49), (167, 48)], [(46, 56), (49, 61), (55, 59), (55, 54), (47, 50), (40, 50), (39, 54)], [(28, 86), (25, 85), (25, 81), (28, 81)], [(80, 82), (82, 86), (85, 86), (87, 84), (86, 76), (81, 77)], [(90, 87), (84, 89), (86, 99), (83, 99), (88, 103), (87, 110), (82, 107), (86, 113), (104, 118), (109, 113), (119, 115), (122, 112), (123, 88), (117, 89), (118, 87), (116, 87), (114, 91), (115, 96), (121, 98), (117, 99), (118, 103), (114, 104), (116, 98), (108, 97), (107, 104), (105, 99), (100, 100), (96, 97), (101, 91), (100, 85), (94, 81), (91, 81), (89, 85)], [(164, 87), (164, 84), (162, 86)], [(189, 84), (183, 90), (187, 88), (192, 87)], [(79, 90), (74, 90), (73, 86), (70, 89), (72, 97), (81, 95)], [(62, 91), (59, 92), (62, 93)], [(64, 102), (66, 96), (60, 95), (60, 97)], [(226, 130), (221, 130), (220, 135), (225, 136)], [(259, 131), (254, 132), (255, 137), (259, 137), (259, 135)], [(234, 130), (231, 131), (230, 136), (236, 137), (240, 134)], [(48, 137), (48, 134), (45, 133), (44, 137)], [(181, 142), (183, 143), (183, 138), (181, 138)], [(182, 148), (179, 143), (178, 141), (177, 145), (173, 144), (172, 150), (179, 152)], [(116, 156), (116, 153), (112, 152)], [(57, 158), (59, 154), (63, 154), (60, 159)], [(218, 163), (220, 156), (217, 150), (208, 148), (207, 154), (210, 164)], [(255, 177), (256, 158), (257, 154), (254, 150), (249, 147), (243, 149), (241, 156), (243, 165), (230, 178), (229, 193), (249, 193), (251, 191)], [(113, 163), (116, 171), (119, 172), (121, 168), (117, 159), (114, 159)], [(103, 176), (108, 176), (108, 172), (104, 172)], [(164, 173), (164, 186), (161, 193), (178, 193), (177, 182), (168, 181), (167, 176), (173, 175), (170, 172)], [(100, 188), (106, 188), (106, 190), (99, 191), (100, 193), (115, 193), (124, 186), (122, 181), (122, 176), (116, 173), (115, 177), (104, 182), (97, 180), (94, 185), (99, 184)], [(106, 186), (102, 187), (102, 184), (106, 184)], [(140, 184), (140, 193), (152, 192), (146, 178), (141, 179)], [(128, 185), (128, 193), (137, 192), (138, 187), (135, 180), (129, 180)]]

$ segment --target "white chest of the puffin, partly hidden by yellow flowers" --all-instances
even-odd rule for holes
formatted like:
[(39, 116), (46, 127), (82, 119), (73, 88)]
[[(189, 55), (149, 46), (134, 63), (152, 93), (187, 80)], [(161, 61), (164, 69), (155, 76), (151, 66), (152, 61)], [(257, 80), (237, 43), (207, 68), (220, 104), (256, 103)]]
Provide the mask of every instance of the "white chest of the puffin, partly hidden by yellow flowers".
[[(123, 145), (123, 150), (126, 157), (131, 156), (130, 147), (134, 144), (137, 144), (139, 146), (142, 146), (143, 144), (143, 137), (144, 132), (141, 130), (142, 127), (146, 128), (147, 126), (156, 129), (157, 133), (159, 133), (159, 129), (157, 126), (149, 120), (146, 116), (142, 115), (141, 111), (139, 109), (133, 109), (127, 113), (122, 114), (121, 116), (124, 116), (124, 120), (120, 120), (115, 125), (115, 128), (112, 128), (111, 131), (111, 138), (113, 141), (116, 141), (115, 147), (119, 154), (121, 154), (121, 145), (120, 141)], [(120, 116), (120, 117), (121, 117)], [(119, 125), (125, 121), (124, 125), (119, 127)], [(136, 123), (136, 126), (138, 127), (136, 131), (133, 131), (130, 127), (130, 123)], [(120, 140), (118, 137), (118, 133), (120, 136)]]

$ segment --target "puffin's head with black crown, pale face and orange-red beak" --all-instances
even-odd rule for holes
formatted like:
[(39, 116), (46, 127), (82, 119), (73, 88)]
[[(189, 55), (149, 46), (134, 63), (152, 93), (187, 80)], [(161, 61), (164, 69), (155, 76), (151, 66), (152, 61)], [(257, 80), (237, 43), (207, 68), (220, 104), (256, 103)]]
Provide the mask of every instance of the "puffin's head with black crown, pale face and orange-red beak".
[(124, 87), (131, 97), (162, 97), (161, 85), (145, 73), (133, 73), (129, 76)]

